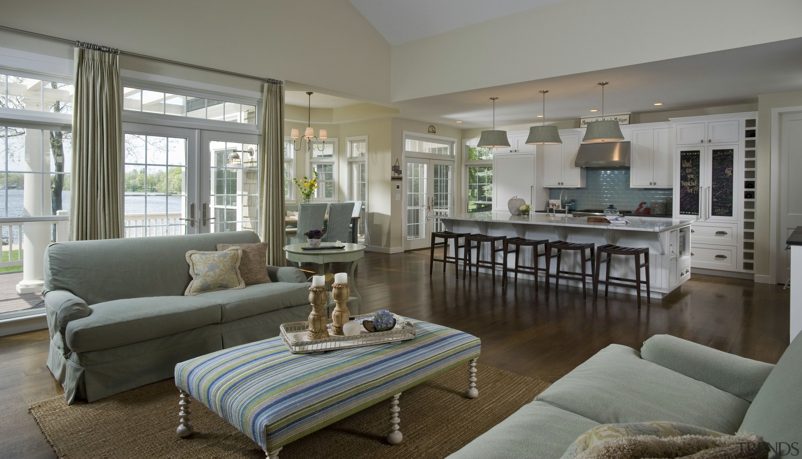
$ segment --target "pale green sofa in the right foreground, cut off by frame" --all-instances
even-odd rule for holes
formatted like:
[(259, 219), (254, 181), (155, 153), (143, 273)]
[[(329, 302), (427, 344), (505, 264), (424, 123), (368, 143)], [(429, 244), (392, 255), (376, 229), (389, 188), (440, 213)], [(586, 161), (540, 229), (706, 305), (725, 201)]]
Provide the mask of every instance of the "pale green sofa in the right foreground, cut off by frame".
[(780, 448), (776, 457), (796, 456), (800, 388), (800, 337), (772, 365), (654, 335), (640, 352), (618, 344), (602, 349), (447, 459), (558, 459), (598, 424), (648, 420), (757, 433)]

